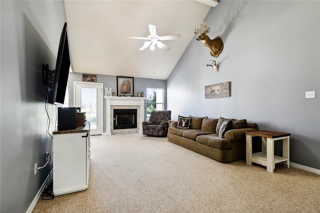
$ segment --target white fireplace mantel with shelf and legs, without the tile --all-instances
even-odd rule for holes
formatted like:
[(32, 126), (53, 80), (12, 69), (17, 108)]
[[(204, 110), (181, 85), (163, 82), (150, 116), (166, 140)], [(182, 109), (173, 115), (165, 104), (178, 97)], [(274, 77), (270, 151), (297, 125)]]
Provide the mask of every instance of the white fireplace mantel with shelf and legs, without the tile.
[(105, 134), (111, 135), (111, 106), (139, 106), (140, 118), (137, 120), (139, 122), (137, 132), (142, 132), (142, 121), (144, 120), (144, 100), (145, 97), (119, 97), (119, 96), (104, 96), (105, 98)]

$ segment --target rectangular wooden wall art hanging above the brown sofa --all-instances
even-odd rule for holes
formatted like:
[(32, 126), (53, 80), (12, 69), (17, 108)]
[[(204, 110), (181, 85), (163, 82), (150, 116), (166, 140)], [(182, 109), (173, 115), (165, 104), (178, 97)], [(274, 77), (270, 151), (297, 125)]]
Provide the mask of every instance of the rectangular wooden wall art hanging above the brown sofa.
[(204, 86), (204, 97), (229, 97), (230, 81)]

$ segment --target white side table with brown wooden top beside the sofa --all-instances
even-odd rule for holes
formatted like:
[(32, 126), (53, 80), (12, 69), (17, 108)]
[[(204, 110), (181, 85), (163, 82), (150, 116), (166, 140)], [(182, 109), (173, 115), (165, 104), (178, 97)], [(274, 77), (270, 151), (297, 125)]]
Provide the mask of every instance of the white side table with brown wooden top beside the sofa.
[[(290, 133), (259, 130), (248, 131), (246, 134), (246, 164), (252, 162), (266, 166), (268, 172), (273, 173), (275, 163), (282, 162), (283, 166), (289, 167), (289, 137)], [(252, 137), (260, 136), (262, 151), (252, 154)], [(282, 157), (274, 155), (274, 141), (282, 139)]]

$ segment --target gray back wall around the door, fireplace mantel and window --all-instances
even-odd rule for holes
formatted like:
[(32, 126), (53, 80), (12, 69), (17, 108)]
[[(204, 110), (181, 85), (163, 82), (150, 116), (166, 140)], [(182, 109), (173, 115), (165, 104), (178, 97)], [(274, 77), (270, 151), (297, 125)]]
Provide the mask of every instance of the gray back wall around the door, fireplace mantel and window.
[[(114, 75), (96, 75), (97, 83), (103, 83), (103, 95), (104, 87), (112, 88), (112, 92), (114, 91), (117, 94), (116, 88), (116, 76)], [(68, 91), (69, 91), (69, 106), (74, 106), (73, 104), (73, 81), (82, 81), (82, 73), (70, 73), (68, 79)], [(166, 109), (166, 80), (159, 80), (159, 79), (149, 79), (149, 78), (140, 78), (134, 77), (133, 78), (133, 91), (134, 94), (137, 95), (138, 92), (146, 91), (147, 87), (152, 88), (164, 88), (164, 110)], [(144, 110), (146, 110), (146, 102), (144, 101)], [(144, 114), (144, 120), (146, 119), (146, 114)], [(103, 129), (102, 131), (105, 132), (105, 99), (103, 98)]]

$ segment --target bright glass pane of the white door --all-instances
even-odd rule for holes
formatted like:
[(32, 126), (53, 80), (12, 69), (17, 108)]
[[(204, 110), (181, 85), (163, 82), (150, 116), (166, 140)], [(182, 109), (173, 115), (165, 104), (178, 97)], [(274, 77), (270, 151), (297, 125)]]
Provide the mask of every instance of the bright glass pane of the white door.
[(90, 122), (90, 128), (96, 129), (96, 88), (81, 88), (81, 111)]

